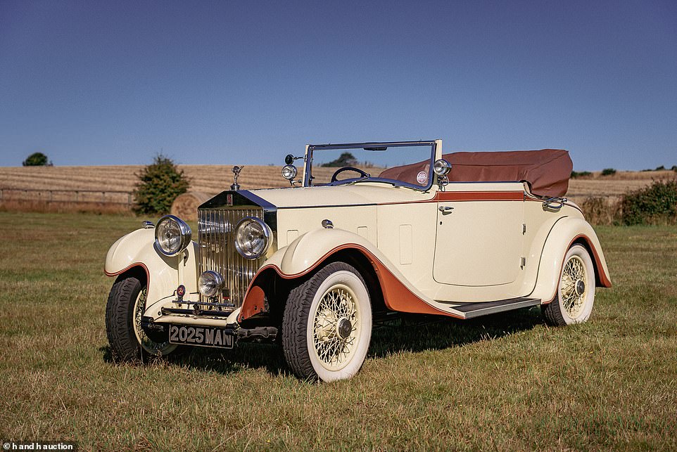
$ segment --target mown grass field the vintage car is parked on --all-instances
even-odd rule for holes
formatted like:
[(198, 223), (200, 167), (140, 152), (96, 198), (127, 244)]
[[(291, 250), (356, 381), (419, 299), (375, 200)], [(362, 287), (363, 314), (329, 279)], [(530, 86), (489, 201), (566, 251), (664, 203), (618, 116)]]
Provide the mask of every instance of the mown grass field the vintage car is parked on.
[(598, 228), (590, 321), (538, 309), (374, 332), (353, 380), (279, 349), (110, 363), (103, 258), (139, 219), (0, 212), (0, 437), (106, 449), (677, 448), (677, 227)]

